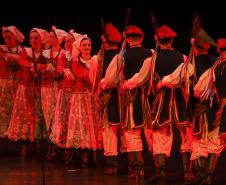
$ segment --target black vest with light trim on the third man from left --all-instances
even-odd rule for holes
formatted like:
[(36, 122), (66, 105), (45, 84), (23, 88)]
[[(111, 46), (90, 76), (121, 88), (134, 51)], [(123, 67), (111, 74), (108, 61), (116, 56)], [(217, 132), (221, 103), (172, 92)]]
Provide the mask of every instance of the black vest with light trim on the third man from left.
[[(157, 53), (155, 74), (161, 80), (164, 76), (173, 73), (183, 62), (183, 54), (177, 50), (162, 49)], [(164, 87), (159, 90), (152, 111), (153, 123), (162, 127), (173, 122), (183, 124), (189, 120), (185, 98), (180, 88)]]

